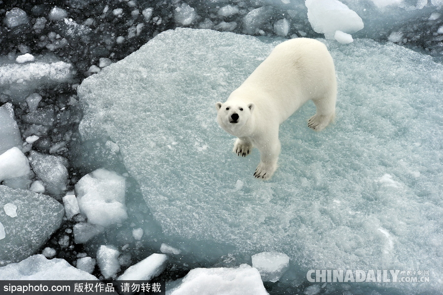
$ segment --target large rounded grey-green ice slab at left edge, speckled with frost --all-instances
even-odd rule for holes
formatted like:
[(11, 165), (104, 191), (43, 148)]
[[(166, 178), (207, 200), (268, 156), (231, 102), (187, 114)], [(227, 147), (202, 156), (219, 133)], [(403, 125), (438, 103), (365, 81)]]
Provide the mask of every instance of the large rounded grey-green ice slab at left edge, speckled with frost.
[[(3, 210), (9, 203), (17, 206), (16, 217)], [(0, 240), (0, 265), (19, 262), (38, 251), (60, 227), (64, 213), (63, 206), (52, 197), (3, 185), (0, 185), (0, 208), (0, 222), (6, 234)]]

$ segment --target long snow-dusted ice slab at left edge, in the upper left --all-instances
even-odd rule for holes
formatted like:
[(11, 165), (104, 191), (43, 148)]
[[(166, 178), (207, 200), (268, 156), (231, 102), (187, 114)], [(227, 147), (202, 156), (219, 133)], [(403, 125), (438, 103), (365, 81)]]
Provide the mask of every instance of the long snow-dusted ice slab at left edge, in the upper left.
[(69, 81), (71, 70), (68, 63), (45, 59), (24, 64), (0, 62), (0, 93), (22, 101), (37, 88)]

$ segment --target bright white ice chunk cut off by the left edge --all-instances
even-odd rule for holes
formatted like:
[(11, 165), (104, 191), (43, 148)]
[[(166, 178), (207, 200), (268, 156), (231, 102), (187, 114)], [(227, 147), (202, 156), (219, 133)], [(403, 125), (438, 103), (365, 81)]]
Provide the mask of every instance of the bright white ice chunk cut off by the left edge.
[(5, 179), (27, 176), (30, 172), (28, 158), (13, 147), (0, 155), (0, 182)]

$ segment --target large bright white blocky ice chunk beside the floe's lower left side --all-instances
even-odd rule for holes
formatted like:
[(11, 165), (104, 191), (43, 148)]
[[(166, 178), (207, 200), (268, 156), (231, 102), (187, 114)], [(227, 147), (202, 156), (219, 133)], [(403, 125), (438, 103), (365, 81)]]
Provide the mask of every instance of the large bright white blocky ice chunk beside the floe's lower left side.
[(125, 177), (106, 169), (83, 176), (75, 185), (80, 212), (88, 222), (109, 227), (127, 219)]

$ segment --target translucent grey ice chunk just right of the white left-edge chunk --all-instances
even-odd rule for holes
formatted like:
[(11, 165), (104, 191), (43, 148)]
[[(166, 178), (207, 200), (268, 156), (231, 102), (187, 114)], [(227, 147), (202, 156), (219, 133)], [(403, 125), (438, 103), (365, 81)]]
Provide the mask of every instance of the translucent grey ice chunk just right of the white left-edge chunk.
[(44, 182), (46, 191), (52, 195), (61, 195), (66, 190), (68, 177), (66, 159), (35, 151), (31, 151), (30, 159), (32, 170)]

